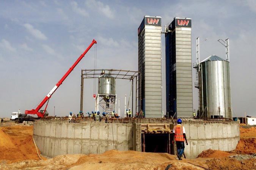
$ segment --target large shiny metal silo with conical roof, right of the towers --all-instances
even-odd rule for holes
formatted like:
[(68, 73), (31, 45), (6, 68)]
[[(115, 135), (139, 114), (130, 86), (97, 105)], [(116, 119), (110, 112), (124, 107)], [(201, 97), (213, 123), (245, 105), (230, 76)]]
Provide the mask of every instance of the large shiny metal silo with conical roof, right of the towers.
[(212, 55), (200, 62), (200, 113), (232, 119), (229, 62)]

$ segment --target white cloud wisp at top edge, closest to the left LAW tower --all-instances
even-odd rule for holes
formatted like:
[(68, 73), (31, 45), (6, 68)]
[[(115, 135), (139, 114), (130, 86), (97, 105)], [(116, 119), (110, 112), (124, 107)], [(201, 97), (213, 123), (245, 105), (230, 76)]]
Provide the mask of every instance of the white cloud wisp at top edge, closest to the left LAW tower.
[(86, 5), (95, 7), (95, 9), (98, 9), (99, 12), (103, 13), (110, 19), (114, 18), (113, 9), (110, 9), (110, 7), (108, 5), (104, 5), (104, 3), (100, 2), (100, 1), (88, 0), (86, 2)]

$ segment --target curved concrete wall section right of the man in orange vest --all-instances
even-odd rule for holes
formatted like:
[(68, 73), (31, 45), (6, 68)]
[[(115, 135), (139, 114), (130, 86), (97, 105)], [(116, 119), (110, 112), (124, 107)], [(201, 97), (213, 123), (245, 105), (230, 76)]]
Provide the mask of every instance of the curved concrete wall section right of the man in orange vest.
[(240, 140), (239, 122), (184, 122), (188, 145), (187, 158), (196, 158), (204, 150), (231, 151)]

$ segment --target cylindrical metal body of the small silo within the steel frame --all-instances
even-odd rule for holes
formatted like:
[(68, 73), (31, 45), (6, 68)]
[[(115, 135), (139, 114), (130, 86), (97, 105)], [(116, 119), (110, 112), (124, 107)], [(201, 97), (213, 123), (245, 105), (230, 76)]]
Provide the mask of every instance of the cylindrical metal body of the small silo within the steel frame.
[(116, 94), (116, 79), (109, 75), (102, 75), (99, 78), (98, 94)]

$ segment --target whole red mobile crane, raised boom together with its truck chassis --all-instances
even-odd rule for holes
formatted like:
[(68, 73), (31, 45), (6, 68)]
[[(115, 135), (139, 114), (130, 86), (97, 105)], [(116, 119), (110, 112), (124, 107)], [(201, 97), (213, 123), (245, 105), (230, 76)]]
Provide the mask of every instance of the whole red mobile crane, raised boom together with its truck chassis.
[[(14, 120), (16, 123), (21, 123), (23, 121), (34, 121), (34, 120), (40, 119), (41, 117), (48, 116), (46, 108), (47, 108), (50, 97), (58, 89), (58, 87), (60, 87), (60, 85), (63, 83), (63, 81), (68, 77), (68, 75), (71, 73), (71, 71), (74, 70), (75, 66), (80, 62), (80, 60), (82, 60), (82, 58), (91, 49), (91, 47), (94, 44), (97, 44), (96, 40), (93, 40), (91, 42), (91, 44), (88, 46), (88, 48), (83, 52), (83, 54), (81, 54), (81, 56), (75, 61), (75, 63), (71, 66), (71, 68), (69, 68), (67, 73), (64, 74), (64, 76), (60, 79), (60, 81), (52, 88), (52, 90), (50, 90), (50, 92), (42, 100), (42, 102), (38, 105), (38, 107), (36, 109), (25, 110), (25, 114), (19, 114), (17, 119), (16, 118), (15, 119), (11, 118), (11, 120)], [(46, 104), (46, 102), (47, 102), (47, 104)], [(44, 104), (46, 104), (45, 109), (40, 110)], [(27, 114), (37, 114), (38, 117), (28, 116)]]

